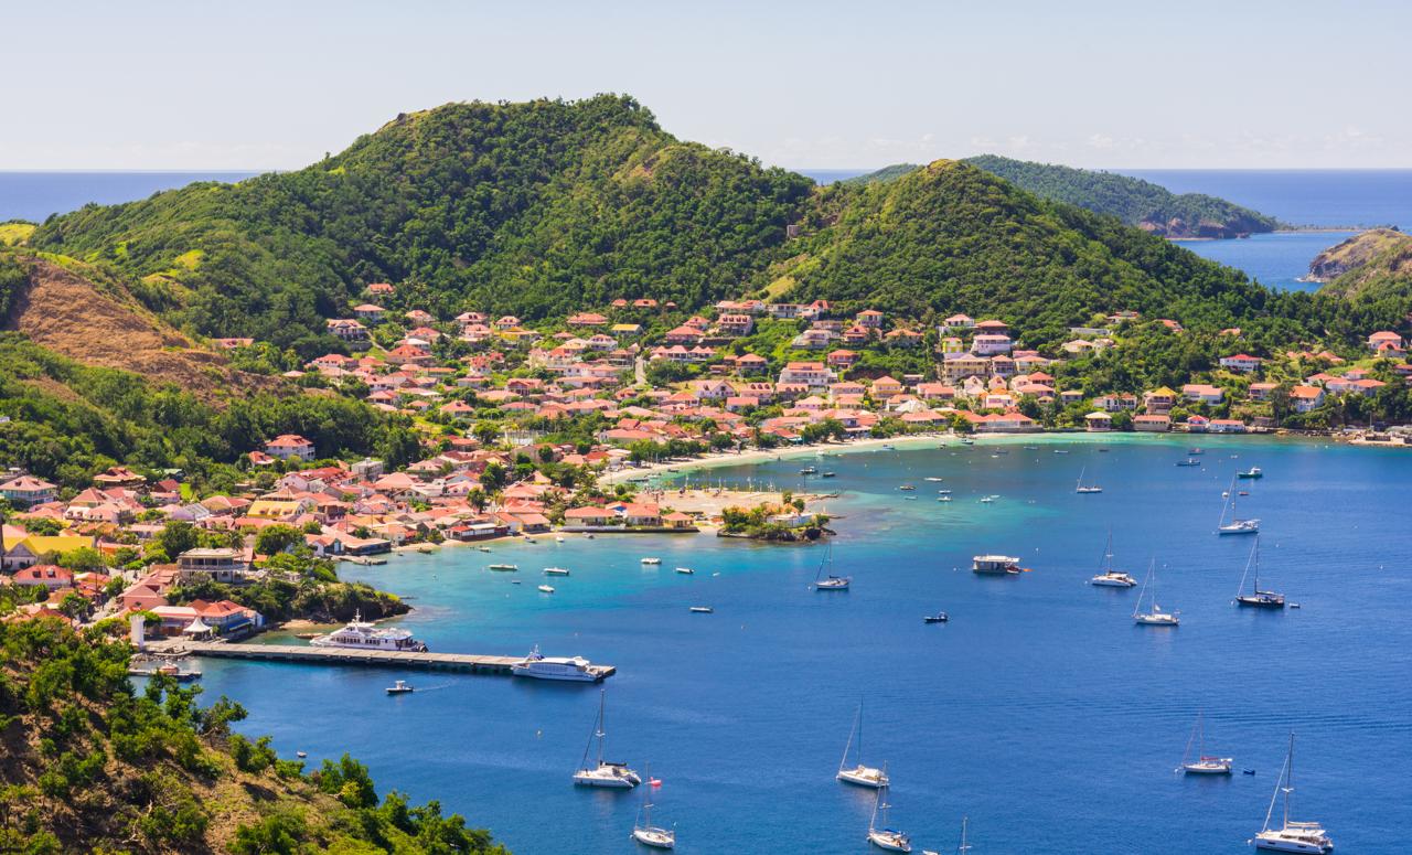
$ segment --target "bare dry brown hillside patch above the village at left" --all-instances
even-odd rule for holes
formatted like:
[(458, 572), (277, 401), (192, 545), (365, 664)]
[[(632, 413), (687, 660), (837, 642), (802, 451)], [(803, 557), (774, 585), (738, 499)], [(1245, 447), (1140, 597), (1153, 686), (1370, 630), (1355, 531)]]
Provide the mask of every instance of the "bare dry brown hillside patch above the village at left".
[(4, 329), (86, 365), (123, 369), (175, 383), (203, 399), (222, 389), (270, 386), (230, 367), (143, 308), (120, 285), (93, 280), (47, 259), (25, 259), (30, 283), (16, 294)]

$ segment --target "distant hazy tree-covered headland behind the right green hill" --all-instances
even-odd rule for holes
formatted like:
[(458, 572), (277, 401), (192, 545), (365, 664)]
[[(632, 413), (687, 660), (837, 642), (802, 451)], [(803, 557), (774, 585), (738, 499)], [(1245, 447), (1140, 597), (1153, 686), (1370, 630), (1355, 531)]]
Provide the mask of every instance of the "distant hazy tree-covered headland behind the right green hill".
[(1165, 237), (1234, 237), (1241, 233), (1272, 232), (1281, 225), (1272, 216), (1217, 196), (1176, 195), (1151, 181), (1115, 172), (1038, 164), (995, 154), (971, 157), (966, 163), (1045, 199), (1110, 213), (1130, 226)]

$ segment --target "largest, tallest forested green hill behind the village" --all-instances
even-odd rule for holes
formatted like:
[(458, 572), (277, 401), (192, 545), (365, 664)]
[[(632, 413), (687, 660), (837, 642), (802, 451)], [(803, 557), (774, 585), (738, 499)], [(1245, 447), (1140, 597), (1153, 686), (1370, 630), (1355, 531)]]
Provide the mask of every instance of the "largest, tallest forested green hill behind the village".
[(373, 281), (412, 283), (450, 314), (696, 305), (770, 260), (810, 189), (678, 141), (628, 98), (459, 103), (297, 172), (88, 206), (30, 244), (145, 277), (178, 325), (312, 353), (323, 318)]

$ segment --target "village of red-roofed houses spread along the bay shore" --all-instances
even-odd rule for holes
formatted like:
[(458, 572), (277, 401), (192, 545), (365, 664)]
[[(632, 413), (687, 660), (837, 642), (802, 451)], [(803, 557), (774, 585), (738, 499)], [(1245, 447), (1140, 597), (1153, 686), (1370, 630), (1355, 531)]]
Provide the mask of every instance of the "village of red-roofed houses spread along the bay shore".
[[(1070, 329), (1045, 355), (994, 318), (955, 314), (923, 328), (825, 301), (722, 301), (688, 314), (616, 300), (561, 324), (527, 324), (387, 308), (401, 305), (387, 283), (366, 298), (328, 322), (346, 352), (285, 377), (414, 418), (421, 459), (397, 471), (370, 458), (322, 459), (311, 440), (278, 434), (247, 449), (239, 489), (213, 495), (195, 495), (179, 472), (124, 466), (80, 490), (0, 473), (8, 509), (0, 572), (34, 592), (25, 611), (68, 619), (144, 611), (165, 633), (240, 635), (265, 615), (172, 594), (301, 578), (288, 564), (271, 567), (261, 546), (298, 554), (306, 572), (309, 561), (556, 529), (696, 531), (720, 524), (719, 505), (678, 509), (671, 495), (637, 496), (631, 482), (610, 489), (597, 476), (706, 452), (916, 432), (1271, 431), (1412, 376), (1405, 342), (1388, 331), (1371, 332), (1367, 355), (1350, 359), (1254, 356), (1227, 329), (1228, 355), (1210, 372), (1134, 393), (1093, 389), (1073, 367), (1134, 331), (1180, 336), (1180, 324), (1118, 312)], [(215, 346), (239, 356), (258, 342)], [(785, 527), (812, 519), (802, 502), (770, 512)], [(172, 526), (201, 537), (167, 554), (160, 543)]]

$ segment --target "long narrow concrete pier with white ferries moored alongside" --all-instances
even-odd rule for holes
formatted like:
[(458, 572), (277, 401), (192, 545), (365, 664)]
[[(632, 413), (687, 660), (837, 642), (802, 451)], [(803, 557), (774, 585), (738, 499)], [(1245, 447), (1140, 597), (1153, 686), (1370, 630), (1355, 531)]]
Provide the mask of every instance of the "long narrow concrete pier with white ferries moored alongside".
[[(524, 661), (522, 656), (481, 656), (476, 653), (415, 653), (411, 650), (354, 650), (347, 647), (304, 647), (298, 644), (230, 644), (175, 639), (148, 642), (150, 653), (246, 659), (257, 661), (292, 661), (301, 664), (363, 666), (381, 668), (418, 668), (424, 671), (462, 671), (469, 674), (510, 676)], [(617, 673), (614, 666), (590, 666), (597, 680)]]

